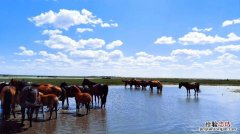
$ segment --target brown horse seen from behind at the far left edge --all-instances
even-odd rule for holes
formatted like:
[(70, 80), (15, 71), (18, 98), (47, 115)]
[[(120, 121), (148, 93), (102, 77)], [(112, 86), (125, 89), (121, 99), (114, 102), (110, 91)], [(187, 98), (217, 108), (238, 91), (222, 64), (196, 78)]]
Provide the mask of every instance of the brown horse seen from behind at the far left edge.
[[(1, 90), (1, 108), (3, 110), (3, 119), (10, 117), (10, 111), (15, 116), (15, 105), (17, 103), (17, 90), (14, 86), (4, 86)], [(10, 108), (11, 107), (11, 108)]]

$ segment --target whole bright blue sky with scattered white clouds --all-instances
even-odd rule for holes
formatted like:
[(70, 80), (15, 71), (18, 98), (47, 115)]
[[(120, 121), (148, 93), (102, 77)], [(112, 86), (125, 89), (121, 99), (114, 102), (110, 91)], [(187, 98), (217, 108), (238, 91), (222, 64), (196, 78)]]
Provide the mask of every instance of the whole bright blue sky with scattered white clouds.
[(239, 79), (239, 0), (2, 0), (0, 74)]

